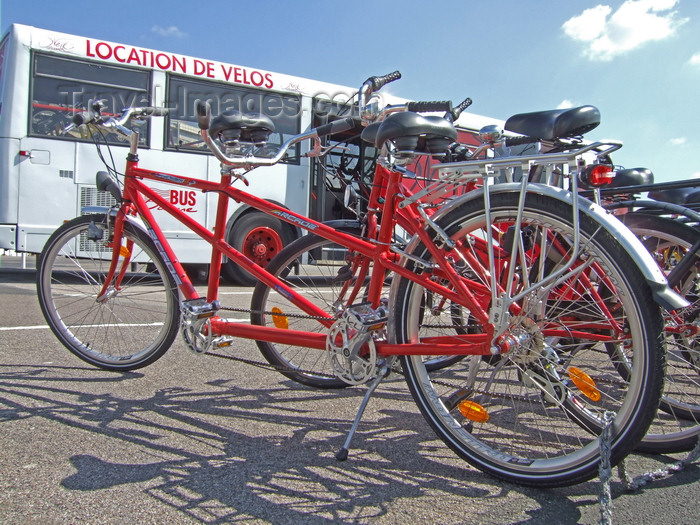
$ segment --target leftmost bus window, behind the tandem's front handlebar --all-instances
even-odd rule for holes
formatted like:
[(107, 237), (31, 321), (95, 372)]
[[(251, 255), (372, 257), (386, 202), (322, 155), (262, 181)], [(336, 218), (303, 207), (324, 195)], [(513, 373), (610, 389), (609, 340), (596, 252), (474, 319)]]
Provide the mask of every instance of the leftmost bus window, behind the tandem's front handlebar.
[[(29, 134), (32, 136), (88, 139), (86, 130), (75, 129), (66, 136), (63, 130), (73, 115), (87, 111), (102, 101), (103, 114), (115, 114), (128, 106), (147, 106), (149, 73), (92, 62), (35, 54), (31, 86)], [(147, 146), (145, 123), (140, 130), (140, 143)], [(106, 137), (120, 143), (116, 136)]]

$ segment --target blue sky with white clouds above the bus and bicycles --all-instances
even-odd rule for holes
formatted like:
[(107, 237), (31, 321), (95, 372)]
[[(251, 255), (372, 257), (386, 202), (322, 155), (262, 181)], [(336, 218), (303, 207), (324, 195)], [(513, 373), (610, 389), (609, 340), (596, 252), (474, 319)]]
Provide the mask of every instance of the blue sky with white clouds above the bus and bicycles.
[(656, 180), (700, 177), (698, 0), (1, 0), (33, 25), (395, 95), (514, 113), (593, 104), (591, 139)]

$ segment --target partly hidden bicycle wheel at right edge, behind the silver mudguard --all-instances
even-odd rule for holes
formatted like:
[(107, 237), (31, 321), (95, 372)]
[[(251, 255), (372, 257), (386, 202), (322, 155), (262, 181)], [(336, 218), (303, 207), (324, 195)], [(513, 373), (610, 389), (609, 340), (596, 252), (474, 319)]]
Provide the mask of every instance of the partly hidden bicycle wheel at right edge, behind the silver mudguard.
[(627, 214), (621, 219), (666, 273), (683, 257), (695, 259), (676, 286), (690, 306), (665, 316), (664, 395), (656, 419), (637, 447), (652, 453), (691, 450), (700, 434), (700, 344), (692, 333), (700, 314), (700, 256), (687, 253), (700, 240), (700, 231), (677, 220), (644, 213)]

